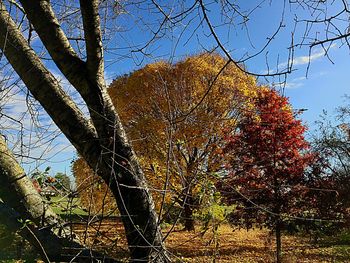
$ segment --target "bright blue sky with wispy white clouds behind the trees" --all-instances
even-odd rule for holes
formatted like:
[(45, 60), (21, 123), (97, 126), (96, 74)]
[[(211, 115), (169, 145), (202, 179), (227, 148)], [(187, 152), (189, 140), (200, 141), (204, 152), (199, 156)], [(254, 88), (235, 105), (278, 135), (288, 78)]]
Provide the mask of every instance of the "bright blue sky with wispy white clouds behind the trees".
[[(176, 6), (179, 1), (174, 1), (174, 5), (171, 4), (172, 1), (163, 2), (169, 2), (169, 5), (175, 11), (179, 8)], [(260, 55), (245, 62), (249, 71), (264, 73), (268, 64), (270, 72), (273, 72), (277, 68), (283, 69), (283, 67), (286, 67), (292, 32), (294, 32), (294, 44), (301, 42), (305, 23), (298, 24), (296, 30), (294, 30), (294, 14), (298, 14), (301, 19), (307, 16), (308, 12), (300, 7), (284, 5), (284, 1), (271, 1), (271, 4), (270, 1), (262, 1), (264, 3), (254, 9), (258, 2), (261, 1), (238, 1), (241, 12), (249, 14), (246, 26), (242, 24), (243, 18), (235, 15), (231, 16), (233, 19), (229, 26), (225, 23), (227, 18), (225, 19), (220, 15), (219, 4), (209, 1), (207, 14), (220, 41), (235, 60), (240, 60), (247, 53), (252, 55), (259, 52), (279, 28), (282, 21), (283, 27), (270, 45)], [(329, 12), (336, 12), (341, 8), (338, 2), (341, 1), (335, 1), (334, 6), (328, 7)], [(190, 6), (191, 3), (188, 2), (187, 6)], [(147, 63), (159, 59), (176, 61), (204, 49), (210, 50), (217, 45), (214, 38), (210, 36), (208, 27), (205, 24), (199, 25), (199, 21), (203, 16), (200, 14), (200, 8), (196, 8), (192, 15), (186, 17), (176, 27), (169, 26), (162, 31), (165, 35), (144, 49), (147, 56), (140, 52), (132, 52), (144, 46), (149, 39), (152, 39), (153, 35), (150, 30), (157, 30), (159, 23), (155, 21), (161, 20), (162, 16), (156, 13), (157, 10), (154, 8), (150, 10), (149, 8), (143, 9), (140, 7), (138, 9), (134, 6), (127, 6), (126, 9), (132, 16), (121, 14), (114, 21), (118, 25), (119, 31), (112, 32), (111, 38), (108, 40), (105, 54), (106, 78), (109, 82), (113, 78), (140, 68)], [(254, 11), (249, 13), (245, 10)], [(200, 15), (198, 16), (198, 14)], [(229, 14), (232, 15), (232, 12)], [(346, 26), (342, 24), (339, 26), (343, 26), (344, 30), (346, 29)], [(322, 36), (322, 28), (324, 28), (324, 25), (312, 29), (309, 36), (314, 37), (316, 32), (321, 32), (317, 35)], [(305, 43), (308, 41), (310, 40)], [(325, 49), (328, 50), (329, 58), (325, 55)], [(218, 52), (222, 53), (219, 49)], [(347, 80), (350, 69), (350, 54), (349, 48), (340, 41), (328, 43), (324, 48), (321, 46), (314, 47), (311, 53), (309, 52), (310, 50), (307, 47), (295, 48), (293, 57), (293, 69), (295, 71), (287, 77), (284, 94), (290, 98), (294, 108), (307, 109), (303, 113), (302, 119), (313, 131), (314, 122), (319, 119), (322, 111), (333, 112), (336, 107), (344, 102), (344, 94), (350, 93), (349, 81)], [(309, 62), (309, 70), (307, 71)], [(278, 82), (278, 78), (267, 80), (259, 78), (260, 83), (267, 83), (267, 81), (271, 85), (273, 82)], [(76, 154), (73, 147), (63, 136), (57, 136), (52, 143), (51, 156), (52, 158), (48, 158), (50, 159), (48, 162), (32, 162), (25, 165), (25, 167), (28, 171), (31, 171), (38, 165), (42, 170), (47, 166), (51, 166), (52, 173), (70, 173), (70, 163)]]

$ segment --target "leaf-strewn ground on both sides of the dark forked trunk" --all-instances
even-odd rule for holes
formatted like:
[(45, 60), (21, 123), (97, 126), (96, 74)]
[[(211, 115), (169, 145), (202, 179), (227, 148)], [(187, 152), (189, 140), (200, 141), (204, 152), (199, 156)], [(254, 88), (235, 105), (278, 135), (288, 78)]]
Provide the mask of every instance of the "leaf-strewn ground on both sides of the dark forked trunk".
[[(86, 225), (76, 224), (74, 228), (93, 247), (113, 252), (119, 258), (127, 260), (127, 247), (120, 222), (113, 220), (93, 223), (88, 227), (87, 235)], [(165, 235), (169, 228), (163, 229)], [(200, 227), (195, 232), (181, 229), (181, 226), (175, 227), (166, 238), (174, 262), (274, 262), (274, 238), (268, 230), (234, 230), (229, 225), (222, 225), (217, 231), (209, 229), (205, 233)], [(350, 262), (349, 236), (323, 239), (315, 243), (309, 237), (284, 235), (283, 262)], [(10, 247), (10, 243), (6, 243), (6, 248), (0, 247), (0, 262), (24, 262), (25, 260), (17, 261), (18, 248), (15, 247), (16, 244), (23, 247), (23, 243), (18, 238)], [(11, 253), (12, 260), (9, 258), (11, 249), (14, 250)], [(21, 258), (27, 258), (25, 253), (21, 253)]]

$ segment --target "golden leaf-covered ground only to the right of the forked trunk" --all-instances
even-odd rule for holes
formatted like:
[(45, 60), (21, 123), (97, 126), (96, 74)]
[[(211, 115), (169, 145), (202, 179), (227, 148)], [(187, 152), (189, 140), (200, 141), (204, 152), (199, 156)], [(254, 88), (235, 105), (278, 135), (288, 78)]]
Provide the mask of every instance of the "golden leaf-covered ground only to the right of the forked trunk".
[[(173, 232), (167, 247), (178, 262), (274, 262), (274, 239), (268, 230), (235, 230), (228, 225), (218, 233)], [(349, 244), (310, 242), (300, 236), (282, 237), (283, 262), (350, 262)]]

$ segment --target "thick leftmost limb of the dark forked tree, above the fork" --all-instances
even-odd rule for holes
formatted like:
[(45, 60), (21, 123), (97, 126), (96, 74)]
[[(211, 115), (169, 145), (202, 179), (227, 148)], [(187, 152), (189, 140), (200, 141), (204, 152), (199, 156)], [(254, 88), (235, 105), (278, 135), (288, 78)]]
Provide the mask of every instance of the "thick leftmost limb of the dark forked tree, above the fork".
[[(77, 146), (81, 141), (95, 141), (94, 128), (29, 47), (27, 40), (19, 32), (2, 1), (0, 1), (0, 12), (0, 46), (4, 47), (5, 56), (33, 96), (52, 116), (54, 122), (73, 145)], [(71, 123), (68, 124), (67, 120), (70, 120)], [(71, 125), (74, 125), (75, 129), (80, 132), (76, 133), (75, 130), (72, 130)], [(84, 153), (91, 151), (89, 148), (92, 146), (85, 145), (84, 149), (77, 146), (77, 148)]]

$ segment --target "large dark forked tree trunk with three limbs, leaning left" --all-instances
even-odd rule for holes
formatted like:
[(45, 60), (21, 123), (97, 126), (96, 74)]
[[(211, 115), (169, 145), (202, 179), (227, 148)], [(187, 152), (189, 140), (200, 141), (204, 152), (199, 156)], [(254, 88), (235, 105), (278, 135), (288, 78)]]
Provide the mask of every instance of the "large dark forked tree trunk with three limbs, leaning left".
[(99, 1), (80, 1), (86, 61), (70, 45), (50, 1), (20, 2), (51, 58), (87, 104), (91, 122), (28, 45), (1, 0), (0, 48), (34, 98), (109, 185), (123, 218), (131, 260), (168, 261), (143, 172), (107, 94)]

